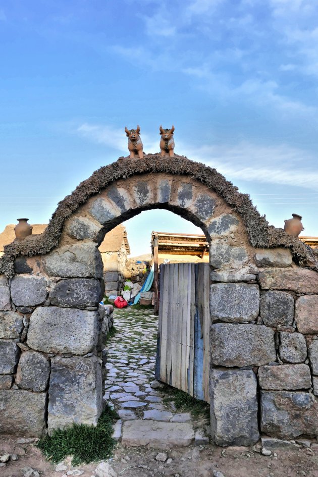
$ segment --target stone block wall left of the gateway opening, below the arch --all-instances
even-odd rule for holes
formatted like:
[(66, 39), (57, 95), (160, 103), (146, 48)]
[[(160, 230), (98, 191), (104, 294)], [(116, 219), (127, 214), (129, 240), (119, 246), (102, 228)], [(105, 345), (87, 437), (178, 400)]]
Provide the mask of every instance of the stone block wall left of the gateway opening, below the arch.
[[(82, 250), (75, 250), (80, 258)], [(88, 255), (85, 267), (78, 261), (72, 273), (69, 253), (43, 260), (48, 275), (30, 269), (10, 280), (0, 276), (2, 433), (40, 436), (73, 421), (95, 424), (100, 415), (113, 307), (98, 304), (98, 255)]]

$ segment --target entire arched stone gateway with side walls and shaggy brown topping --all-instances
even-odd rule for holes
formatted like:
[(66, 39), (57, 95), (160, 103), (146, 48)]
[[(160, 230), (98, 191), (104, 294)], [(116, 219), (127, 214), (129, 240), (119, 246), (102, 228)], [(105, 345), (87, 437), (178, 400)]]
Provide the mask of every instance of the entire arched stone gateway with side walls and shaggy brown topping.
[(318, 434), (318, 273), (306, 246), (269, 227), (245, 194), (185, 157), (148, 154), (96, 171), (40, 236), (0, 260), (0, 429), (41, 435), (102, 410), (105, 233), (165, 208), (210, 244), (211, 431), (219, 445), (259, 432)]

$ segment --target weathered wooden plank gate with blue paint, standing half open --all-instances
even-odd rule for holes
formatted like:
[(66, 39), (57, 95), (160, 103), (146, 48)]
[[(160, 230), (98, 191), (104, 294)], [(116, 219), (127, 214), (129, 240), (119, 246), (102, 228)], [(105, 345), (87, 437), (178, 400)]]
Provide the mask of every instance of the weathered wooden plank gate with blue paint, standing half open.
[(156, 379), (209, 402), (209, 265), (160, 266)]

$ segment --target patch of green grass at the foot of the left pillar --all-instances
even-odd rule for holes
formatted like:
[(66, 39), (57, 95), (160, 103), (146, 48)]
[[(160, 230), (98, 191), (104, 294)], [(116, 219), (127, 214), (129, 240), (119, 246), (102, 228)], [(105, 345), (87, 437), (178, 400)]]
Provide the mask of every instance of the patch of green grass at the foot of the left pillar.
[(73, 424), (69, 429), (56, 429), (51, 436), (40, 439), (37, 446), (55, 463), (68, 455), (73, 455), (74, 466), (108, 459), (116, 445), (112, 425), (117, 419), (117, 413), (107, 406), (96, 427)]

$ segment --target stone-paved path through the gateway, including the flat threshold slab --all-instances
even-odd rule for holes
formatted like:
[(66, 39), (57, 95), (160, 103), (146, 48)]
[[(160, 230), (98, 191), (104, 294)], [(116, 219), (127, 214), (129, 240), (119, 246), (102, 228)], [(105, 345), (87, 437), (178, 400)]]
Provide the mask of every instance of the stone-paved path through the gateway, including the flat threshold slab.
[[(194, 433), (191, 414), (178, 413), (173, 402), (164, 401), (163, 385), (153, 383), (158, 326), (153, 310), (115, 309), (114, 326), (115, 336), (109, 339), (107, 345), (104, 395), (120, 416), (114, 436), (118, 440), (122, 436), (122, 443), (127, 446), (152, 446), (147, 441), (152, 436), (155, 442), (152, 447), (160, 447), (159, 435), (167, 436), (162, 447), (167, 443), (172, 446), (188, 445), (195, 437), (206, 442), (202, 432)], [(134, 420), (139, 422), (132, 423)], [(141, 428), (142, 436), (137, 432)]]

